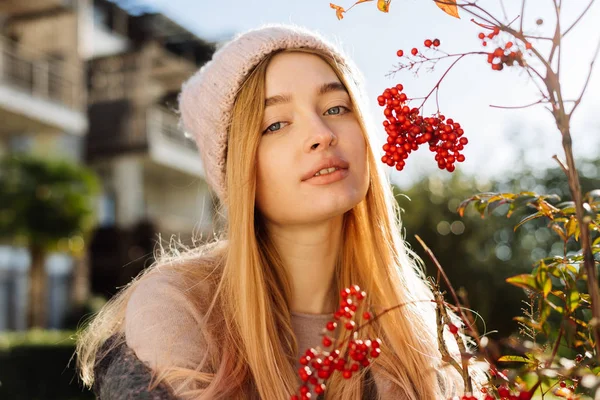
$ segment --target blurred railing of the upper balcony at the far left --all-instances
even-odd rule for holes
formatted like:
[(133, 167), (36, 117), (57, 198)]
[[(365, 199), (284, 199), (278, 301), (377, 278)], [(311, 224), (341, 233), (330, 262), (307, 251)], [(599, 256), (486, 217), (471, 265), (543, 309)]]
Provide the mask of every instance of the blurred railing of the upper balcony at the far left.
[(82, 85), (69, 73), (79, 76), (76, 68), (64, 61), (40, 57), (0, 37), (0, 84), (71, 109), (82, 109)]

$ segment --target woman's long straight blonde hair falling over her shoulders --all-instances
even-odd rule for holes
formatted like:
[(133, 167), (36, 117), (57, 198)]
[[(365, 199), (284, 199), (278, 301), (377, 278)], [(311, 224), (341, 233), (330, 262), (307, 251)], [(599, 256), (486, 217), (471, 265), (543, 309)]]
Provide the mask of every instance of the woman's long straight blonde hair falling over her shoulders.
[[(312, 53), (330, 65), (348, 89), (365, 140), (371, 143), (369, 133), (373, 130), (363, 112), (360, 79), (324, 52), (285, 51)], [(265, 57), (249, 74), (234, 104), (227, 149), (226, 230), (206, 245), (160, 255), (83, 330), (77, 344), (78, 366), (88, 386), (94, 381), (94, 363), (104, 355), (98, 354), (98, 349), (109, 336), (123, 333), (131, 293), (147, 275), (160, 269), (179, 274), (183, 278), (182, 292), (206, 309), (205, 321), (198, 329), (209, 346), (195, 370), (153, 371), (155, 384), (163, 381), (177, 388), (194, 382), (197, 390), (191, 394), (200, 399), (242, 399), (249, 398), (248, 393), (263, 399), (286, 399), (297, 390), (299, 381), (293, 365), (299, 349), (291, 325), (290, 277), (255, 209), (255, 160), (261, 138), (266, 68), (272, 56)], [(450, 388), (462, 390), (462, 379), (454, 371), (440, 368), (432, 291), (418, 258), (401, 236), (398, 204), (370, 145), (367, 162), (367, 194), (344, 215), (335, 290), (339, 293), (341, 288), (358, 284), (368, 293), (362, 307), (372, 307), (376, 312), (405, 304), (361, 331), (383, 341), (373, 371), (404, 392), (403, 398), (447, 398)], [(202, 281), (212, 288), (209, 296), (205, 291), (190, 290), (198, 287), (195, 282)], [(225, 332), (218, 344), (211, 336), (217, 329)], [(344, 331), (339, 340), (345, 339), (348, 332)], [(350, 379), (333, 374), (327, 381), (326, 398), (360, 399), (365, 374), (362, 370)]]

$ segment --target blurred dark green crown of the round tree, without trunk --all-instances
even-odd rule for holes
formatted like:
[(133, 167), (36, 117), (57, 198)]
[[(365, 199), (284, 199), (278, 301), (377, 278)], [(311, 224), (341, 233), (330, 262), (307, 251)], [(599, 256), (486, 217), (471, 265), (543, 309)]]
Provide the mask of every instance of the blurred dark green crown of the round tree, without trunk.
[(0, 187), (0, 238), (51, 250), (95, 225), (100, 181), (83, 165), (9, 154), (0, 160)]

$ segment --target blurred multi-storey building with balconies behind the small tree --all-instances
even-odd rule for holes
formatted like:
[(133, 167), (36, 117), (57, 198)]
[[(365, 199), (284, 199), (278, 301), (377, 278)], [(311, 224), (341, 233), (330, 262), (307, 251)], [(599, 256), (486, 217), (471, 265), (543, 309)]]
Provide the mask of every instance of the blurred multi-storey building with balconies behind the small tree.
[[(129, 282), (157, 235), (189, 244), (219, 229), (175, 112), (182, 82), (214, 48), (164, 15), (107, 0), (0, 3), (0, 156), (66, 158), (102, 182), (88, 256), (46, 262), (49, 327), (64, 326), (76, 285), (109, 297)], [(26, 329), (27, 290), (26, 250), (2, 243), (0, 330)]]

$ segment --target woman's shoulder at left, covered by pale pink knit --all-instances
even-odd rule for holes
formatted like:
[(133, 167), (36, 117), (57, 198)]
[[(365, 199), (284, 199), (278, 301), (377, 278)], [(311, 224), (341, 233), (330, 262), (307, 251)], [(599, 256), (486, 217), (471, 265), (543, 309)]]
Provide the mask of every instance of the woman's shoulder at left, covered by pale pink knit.
[(125, 340), (151, 368), (193, 369), (202, 359), (206, 337), (201, 328), (216, 281), (209, 264), (198, 260), (159, 264), (132, 285), (125, 308)]

